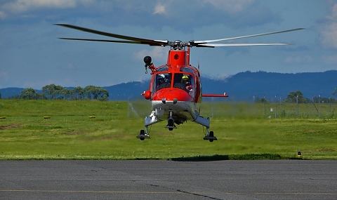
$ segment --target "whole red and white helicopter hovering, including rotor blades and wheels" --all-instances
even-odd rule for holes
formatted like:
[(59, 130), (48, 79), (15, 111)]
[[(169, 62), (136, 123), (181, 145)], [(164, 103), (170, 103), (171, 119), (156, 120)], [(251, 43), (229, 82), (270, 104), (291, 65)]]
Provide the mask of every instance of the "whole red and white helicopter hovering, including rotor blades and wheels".
[(107, 39), (77, 39), (77, 38), (60, 38), (79, 41), (104, 41), (104, 42), (116, 42), (126, 44), (147, 44), (150, 46), (170, 46), (171, 50), (167, 58), (166, 65), (155, 67), (152, 63), (150, 56), (145, 56), (145, 73), (147, 69), (150, 69), (152, 75), (150, 81), (150, 88), (145, 91), (145, 99), (152, 102), (152, 112), (150, 116), (145, 117), (145, 129), (140, 130), (140, 134), (137, 138), (144, 140), (150, 138), (148, 126), (155, 124), (163, 119), (167, 119), (167, 125), (169, 131), (173, 131), (177, 128), (176, 125), (183, 124), (187, 120), (196, 122), (206, 127), (206, 134), (204, 140), (213, 142), (217, 140), (213, 131), (209, 131), (210, 120), (200, 116), (200, 103), (203, 97), (228, 97), (226, 93), (219, 94), (204, 94), (201, 90), (200, 72), (198, 69), (190, 65), (190, 48), (192, 47), (209, 47), (214, 48), (216, 46), (270, 46), (270, 45), (289, 45), (289, 44), (217, 44), (213, 42), (227, 41), (232, 39), (242, 39), (252, 36), (263, 36), (267, 34), (279, 34), (283, 32), (291, 32), (300, 30), (288, 29), (279, 32), (269, 32), (263, 34), (253, 34), (248, 36), (237, 36), (226, 39), (213, 39), (204, 41), (190, 40), (188, 42), (183, 41), (168, 41), (168, 40), (152, 40), (143, 39), (133, 36), (125, 36), (121, 34), (112, 34), (108, 32), (100, 32), (94, 29), (87, 29), (84, 27), (77, 27), (67, 24), (55, 24), (62, 27), (68, 27), (71, 29), (78, 29), (84, 32), (91, 32), (93, 34), (100, 34), (103, 36), (110, 36), (117, 39), (124, 40), (107, 40)]

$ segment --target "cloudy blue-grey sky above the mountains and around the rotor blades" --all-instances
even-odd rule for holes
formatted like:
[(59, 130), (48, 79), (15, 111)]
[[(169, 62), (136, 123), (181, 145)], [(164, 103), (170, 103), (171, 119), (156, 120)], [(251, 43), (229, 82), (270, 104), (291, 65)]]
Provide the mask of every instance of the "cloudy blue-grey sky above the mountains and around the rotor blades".
[(246, 71), (337, 70), (337, 1), (0, 0), (0, 88), (112, 86), (150, 79), (146, 55), (157, 67), (166, 64), (168, 46), (62, 40), (113, 38), (56, 23), (169, 41), (305, 28), (226, 41), (291, 46), (192, 47), (190, 64), (199, 62), (201, 78), (214, 79)]

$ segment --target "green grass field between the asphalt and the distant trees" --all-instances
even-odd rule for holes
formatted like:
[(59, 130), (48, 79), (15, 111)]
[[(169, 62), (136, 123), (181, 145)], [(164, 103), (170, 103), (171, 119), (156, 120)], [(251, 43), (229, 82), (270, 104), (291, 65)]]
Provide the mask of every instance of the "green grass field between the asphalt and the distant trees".
[[(136, 138), (150, 114), (147, 102), (0, 100), (0, 159), (337, 159), (334, 105), (322, 117), (309, 105), (246, 102), (206, 103), (218, 141), (202, 140), (192, 121), (168, 131), (166, 121), (151, 127), (151, 139)], [(311, 108), (310, 108), (311, 110)], [(50, 116), (50, 119), (44, 119)], [(95, 116), (95, 118), (90, 118)], [(2, 117), (4, 118), (4, 117)]]

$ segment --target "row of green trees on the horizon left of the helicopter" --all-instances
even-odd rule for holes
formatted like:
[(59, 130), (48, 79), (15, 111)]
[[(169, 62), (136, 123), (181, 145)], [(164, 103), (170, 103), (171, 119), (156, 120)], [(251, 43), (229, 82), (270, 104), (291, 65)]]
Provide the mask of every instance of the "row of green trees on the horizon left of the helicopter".
[(42, 88), (42, 93), (37, 93), (33, 88), (21, 91), (18, 99), (24, 100), (108, 100), (109, 92), (97, 86), (63, 88), (50, 84)]

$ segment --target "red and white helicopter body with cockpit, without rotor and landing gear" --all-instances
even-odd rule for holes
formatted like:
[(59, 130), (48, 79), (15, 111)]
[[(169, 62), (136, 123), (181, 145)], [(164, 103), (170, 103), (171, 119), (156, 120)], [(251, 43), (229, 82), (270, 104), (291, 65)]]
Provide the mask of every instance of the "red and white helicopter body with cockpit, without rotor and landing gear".
[(157, 116), (172, 116), (176, 124), (199, 116), (201, 82), (199, 70), (189, 65), (189, 50), (169, 51), (166, 65), (155, 67), (145, 98)]

